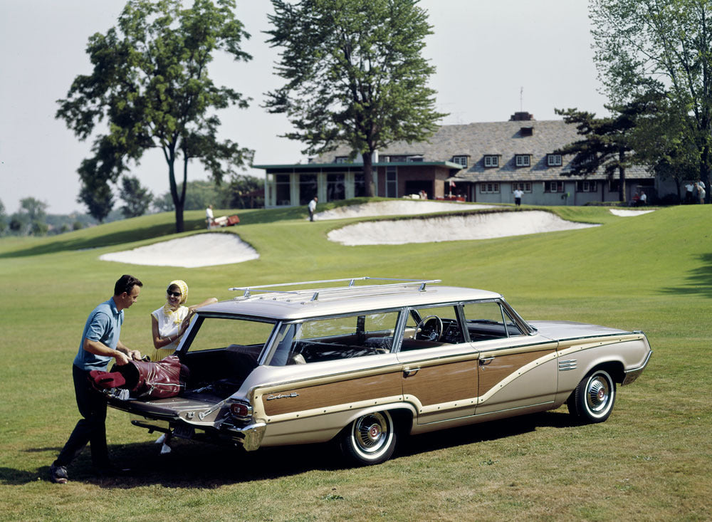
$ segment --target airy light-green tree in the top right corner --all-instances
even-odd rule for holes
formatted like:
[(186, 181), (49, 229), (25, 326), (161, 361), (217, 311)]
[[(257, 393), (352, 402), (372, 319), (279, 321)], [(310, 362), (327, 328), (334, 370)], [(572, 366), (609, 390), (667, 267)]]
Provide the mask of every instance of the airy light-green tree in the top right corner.
[[(666, 92), (687, 125), (697, 177), (712, 168), (712, 0), (590, 0), (595, 61), (615, 104)], [(707, 192), (707, 197), (710, 197)]]

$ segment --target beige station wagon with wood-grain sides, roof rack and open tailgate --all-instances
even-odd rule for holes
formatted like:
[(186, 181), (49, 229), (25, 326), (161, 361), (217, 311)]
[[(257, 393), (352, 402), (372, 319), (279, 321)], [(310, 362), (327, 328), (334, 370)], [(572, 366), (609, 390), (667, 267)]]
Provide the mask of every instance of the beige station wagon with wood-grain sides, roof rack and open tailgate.
[(232, 288), (177, 349), (185, 389), (109, 404), (133, 424), (248, 451), (337, 439), (355, 464), (400, 437), (542, 412), (603, 422), (651, 356), (644, 333), (525, 321), (491, 291), (347, 278)]

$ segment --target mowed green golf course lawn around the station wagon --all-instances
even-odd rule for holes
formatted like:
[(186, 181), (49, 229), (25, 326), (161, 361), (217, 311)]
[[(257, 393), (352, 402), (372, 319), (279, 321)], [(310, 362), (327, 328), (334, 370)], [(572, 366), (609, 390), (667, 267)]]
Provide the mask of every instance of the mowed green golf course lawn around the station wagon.
[[(355, 219), (310, 223), (305, 209), (243, 211), (227, 233), (261, 258), (205, 268), (98, 260), (175, 237), (172, 214), (0, 239), (0, 520), (712, 519), (712, 207), (635, 217), (553, 210), (602, 226), (354, 247), (326, 234)], [(202, 228), (202, 216), (187, 212), (185, 234)], [(122, 340), (140, 350), (150, 348), (150, 312), (174, 278), (187, 281), (194, 303), (231, 298), (231, 286), (368, 275), (498, 291), (528, 319), (644, 330), (654, 354), (637, 382), (619, 388), (602, 424), (573, 424), (562, 407), (412, 437), (391, 461), (365, 468), (345, 467), (328, 444), (245, 454), (178, 441), (159, 456), (155, 434), (110, 409), (110, 452), (134, 474), (93, 476), (87, 449), (70, 466), (69, 484), (51, 484), (48, 466), (78, 419), (70, 365), (85, 319), (122, 273), (145, 283), (122, 329)]]

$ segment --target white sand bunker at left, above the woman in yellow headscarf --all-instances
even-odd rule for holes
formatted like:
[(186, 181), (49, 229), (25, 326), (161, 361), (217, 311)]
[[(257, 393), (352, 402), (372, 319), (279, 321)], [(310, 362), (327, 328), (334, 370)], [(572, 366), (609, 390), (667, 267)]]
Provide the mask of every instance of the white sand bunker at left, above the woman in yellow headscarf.
[(137, 249), (99, 256), (102, 261), (134, 265), (196, 266), (226, 265), (258, 259), (255, 249), (235, 234), (213, 232), (162, 241)]

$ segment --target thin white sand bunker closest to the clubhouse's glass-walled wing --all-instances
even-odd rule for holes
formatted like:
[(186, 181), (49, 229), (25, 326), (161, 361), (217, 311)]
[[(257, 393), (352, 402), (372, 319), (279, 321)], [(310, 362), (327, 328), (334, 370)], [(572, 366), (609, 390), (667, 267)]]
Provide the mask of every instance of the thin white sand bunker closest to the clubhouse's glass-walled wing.
[(314, 219), (345, 219), (347, 217), (400, 216), (410, 214), (433, 214), (451, 210), (491, 209), (493, 205), (471, 203), (419, 201), (402, 199), (399, 201), (363, 203), (337, 207), (314, 214)]

